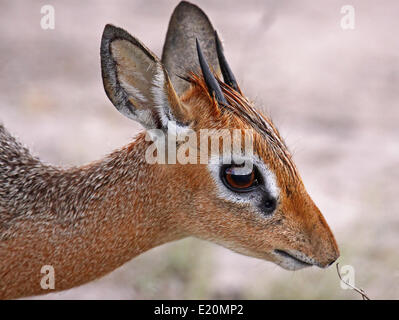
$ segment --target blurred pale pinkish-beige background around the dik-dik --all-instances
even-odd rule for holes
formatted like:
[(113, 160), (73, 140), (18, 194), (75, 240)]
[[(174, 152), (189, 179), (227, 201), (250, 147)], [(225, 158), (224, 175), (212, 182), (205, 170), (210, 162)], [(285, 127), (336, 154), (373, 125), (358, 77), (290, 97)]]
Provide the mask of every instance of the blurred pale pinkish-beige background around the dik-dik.
[[(81, 165), (140, 126), (106, 97), (99, 46), (112, 23), (161, 55), (179, 1), (0, 1), (0, 121), (56, 165)], [(341, 266), (371, 298), (399, 298), (399, 2), (194, 1), (241, 88), (271, 115), (335, 233)], [(40, 27), (43, 5), (55, 29)], [(355, 28), (341, 28), (341, 7)], [(40, 298), (359, 299), (334, 267), (285, 271), (197, 239), (155, 248), (108, 276)]]

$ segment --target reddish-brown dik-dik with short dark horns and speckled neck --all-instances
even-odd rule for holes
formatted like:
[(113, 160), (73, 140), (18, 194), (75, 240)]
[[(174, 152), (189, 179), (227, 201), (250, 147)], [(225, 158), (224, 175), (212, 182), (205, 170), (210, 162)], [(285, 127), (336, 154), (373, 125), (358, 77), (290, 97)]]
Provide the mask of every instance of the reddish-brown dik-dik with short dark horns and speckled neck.
[[(145, 128), (104, 159), (67, 169), (44, 164), (0, 126), (0, 298), (47, 293), (44, 265), (54, 268), (55, 290), (65, 290), (187, 236), (289, 270), (338, 258), (283, 139), (243, 94), (198, 7), (177, 6), (161, 60), (107, 25), (101, 69), (116, 109)], [(252, 132), (253, 152), (242, 156), (245, 165), (223, 162), (209, 146), (209, 163), (149, 163), (147, 133), (168, 137), (170, 123), (197, 136), (239, 132), (241, 141)]]

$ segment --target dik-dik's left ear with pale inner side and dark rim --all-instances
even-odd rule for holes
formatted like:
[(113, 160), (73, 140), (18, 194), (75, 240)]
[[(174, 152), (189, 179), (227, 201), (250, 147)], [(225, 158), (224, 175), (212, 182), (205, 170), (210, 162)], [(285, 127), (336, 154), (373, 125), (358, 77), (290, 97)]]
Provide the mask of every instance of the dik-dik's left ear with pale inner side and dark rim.
[(125, 30), (106, 25), (101, 40), (105, 92), (126, 117), (145, 128), (186, 123), (187, 112), (159, 59)]

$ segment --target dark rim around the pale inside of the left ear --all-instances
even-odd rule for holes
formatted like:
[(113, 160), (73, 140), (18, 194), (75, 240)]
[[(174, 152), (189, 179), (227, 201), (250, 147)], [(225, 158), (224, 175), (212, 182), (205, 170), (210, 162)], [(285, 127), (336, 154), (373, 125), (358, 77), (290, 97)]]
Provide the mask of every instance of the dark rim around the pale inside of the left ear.
[[(162, 77), (162, 86), (155, 84), (156, 80), (152, 81), (151, 91), (158, 87), (159, 90), (164, 90), (164, 97), (161, 97), (164, 102), (158, 103), (156, 106), (149, 106), (148, 109), (138, 110), (134, 104), (131, 103), (129, 95), (124, 90), (118, 78), (117, 61), (112, 54), (111, 45), (115, 40), (128, 41), (132, 45), (138, 47), (141, 52), (154, 63), (157, 68), (156, 73)], [(169, 79), (166, 68), (163, 66), (157, 56), (148, 49), (140, 40), (130, 35), (122, 28), (116, 27), (112, 24), (107, 24), (104, 27), (103, 36), (101, 39), (101, 75), (103, 79), (104, 90), (107, 97), (110, 99), (115, 108), (124, 116), (141, 123), (147, 129), (162, 129), (167, 126), (167, 121), (174, 120), (180, 124), (185, 124), (185, 121), (178, 120), (184, 118), (184, 108), (181, 105), (178, 95), (176, 94), (173, 85)], [(153, 94), (157, 98), (156, 94)], [(161, 100), (162, 100), (161, 99)], [(143, 117), (139, 115), (140, 112), (148, 112), (148, 116)], [(177, 119), (175, 119), (177, 117)]]

